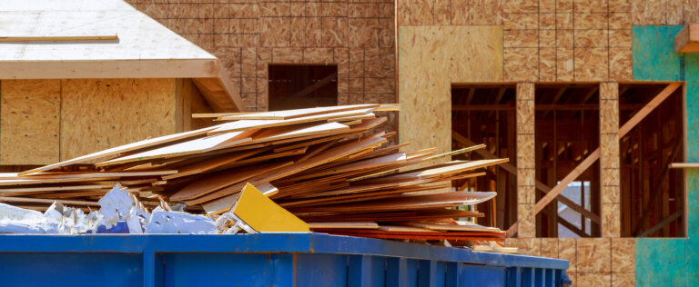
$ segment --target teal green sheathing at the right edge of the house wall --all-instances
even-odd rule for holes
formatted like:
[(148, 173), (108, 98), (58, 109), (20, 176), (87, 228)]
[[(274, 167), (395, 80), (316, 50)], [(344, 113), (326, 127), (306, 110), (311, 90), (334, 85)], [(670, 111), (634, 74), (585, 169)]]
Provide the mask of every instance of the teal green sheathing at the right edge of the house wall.
[[(674, 35), (682, 28), (633, 26), (633, 80), (686, 81), (687, 161), (699, 163), (699, 56), (674, 54)], [(697, 170), (687, 172), (687, 223), (687, 239), (636, 239), (636, 285), (699, 285)]]

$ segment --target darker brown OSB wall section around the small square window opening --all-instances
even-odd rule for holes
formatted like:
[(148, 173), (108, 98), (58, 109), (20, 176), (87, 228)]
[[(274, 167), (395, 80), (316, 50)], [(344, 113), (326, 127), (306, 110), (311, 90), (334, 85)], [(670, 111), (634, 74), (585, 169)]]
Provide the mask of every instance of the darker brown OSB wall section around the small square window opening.
[(268, 109), (268, 64), (337, 64), (339, 104), (396, 102), (392, 0), (128, 2), (218, 56), (248, 110)]

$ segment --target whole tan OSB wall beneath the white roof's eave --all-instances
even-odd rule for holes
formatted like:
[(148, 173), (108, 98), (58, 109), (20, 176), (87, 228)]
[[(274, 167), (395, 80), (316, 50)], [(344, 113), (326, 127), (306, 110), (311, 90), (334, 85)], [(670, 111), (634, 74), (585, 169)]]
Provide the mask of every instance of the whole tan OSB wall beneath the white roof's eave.
[(178, 129), (176, 79), (0, 81), (0, 164), (48, 164)]

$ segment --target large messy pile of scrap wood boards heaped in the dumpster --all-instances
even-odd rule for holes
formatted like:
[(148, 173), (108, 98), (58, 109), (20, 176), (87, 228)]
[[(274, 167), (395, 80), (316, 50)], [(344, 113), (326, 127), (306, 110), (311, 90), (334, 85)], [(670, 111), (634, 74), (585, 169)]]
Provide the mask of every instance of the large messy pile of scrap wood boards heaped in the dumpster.
[(190, 212), (216, 216), (228, 212), (251, 183), (319, 232), (500, 241), (504, 233), (497, 228), (452, 222), (483, 216), (456, 207), (488, 201), (495, 193), (443, 191), (451, 181), (483, 175), (483, 168), (507, 159), (436, 164), (484, 145), (443, 154), (434, 148), (402, 151), (408, 143), (388, 145), (395, 133), (375, 131), (386, 118), (374, 113), (397, 109), (358, 104), (214, 114), (222, 124), (0, 174), (0, 202), (98, 206), (100, 196), (120, 183), (146, 205), (186, 203)]

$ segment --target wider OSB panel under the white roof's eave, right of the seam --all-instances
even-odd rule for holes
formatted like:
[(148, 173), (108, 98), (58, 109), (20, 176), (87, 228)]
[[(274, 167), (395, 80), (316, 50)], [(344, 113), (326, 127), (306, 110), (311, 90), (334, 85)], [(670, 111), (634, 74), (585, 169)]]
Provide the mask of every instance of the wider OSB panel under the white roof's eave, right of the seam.
[(62, 161), (177, 130), (175, 79), (61, 82)]

